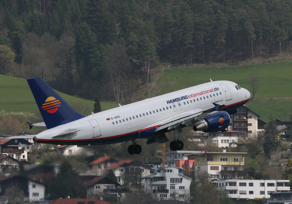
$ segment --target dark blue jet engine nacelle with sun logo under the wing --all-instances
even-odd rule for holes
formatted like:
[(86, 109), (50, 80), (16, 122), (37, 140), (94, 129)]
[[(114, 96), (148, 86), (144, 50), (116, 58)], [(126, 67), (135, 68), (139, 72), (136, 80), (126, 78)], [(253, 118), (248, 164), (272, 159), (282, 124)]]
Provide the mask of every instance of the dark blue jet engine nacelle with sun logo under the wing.
[(203, 117), (198, 125), (194, 126), (194, 131), (218, 132), (229, 126), (230, 116), (225, 111), (218, 111), (212, 115)]

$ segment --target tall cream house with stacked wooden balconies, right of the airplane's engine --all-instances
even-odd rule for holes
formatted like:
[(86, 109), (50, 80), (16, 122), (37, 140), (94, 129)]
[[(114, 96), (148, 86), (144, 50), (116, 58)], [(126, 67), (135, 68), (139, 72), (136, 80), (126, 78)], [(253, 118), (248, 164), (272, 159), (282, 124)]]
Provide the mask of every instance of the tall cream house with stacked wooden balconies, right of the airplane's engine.
[(229, 130), (241, 132), (243, 135), (263, 134), (266, 122), (259, 119), (260, 115), (254, 113), (246, 106), (237, 108), (237, 113), (230, 115)]

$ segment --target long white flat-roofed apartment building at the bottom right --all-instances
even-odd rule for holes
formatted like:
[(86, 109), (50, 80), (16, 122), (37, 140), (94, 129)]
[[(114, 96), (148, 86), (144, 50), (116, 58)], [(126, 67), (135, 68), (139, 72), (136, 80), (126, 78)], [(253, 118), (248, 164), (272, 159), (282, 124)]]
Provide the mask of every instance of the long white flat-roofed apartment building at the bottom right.
[(288, 192), (290, 186), (285, 186), (289, 180), (221, 180), (212, 181), (218, 188), (226, 191), (230, 198), (254, 199), (270, 198), (270, 193)]

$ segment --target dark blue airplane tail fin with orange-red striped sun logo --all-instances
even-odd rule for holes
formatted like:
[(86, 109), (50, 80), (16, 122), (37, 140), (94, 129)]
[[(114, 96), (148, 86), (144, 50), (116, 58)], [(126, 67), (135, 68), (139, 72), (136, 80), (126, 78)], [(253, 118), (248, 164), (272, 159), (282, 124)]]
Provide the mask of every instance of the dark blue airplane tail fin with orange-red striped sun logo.
[(48, 129), (86, 117), (77, 113), (40, 77), (27, 82)]

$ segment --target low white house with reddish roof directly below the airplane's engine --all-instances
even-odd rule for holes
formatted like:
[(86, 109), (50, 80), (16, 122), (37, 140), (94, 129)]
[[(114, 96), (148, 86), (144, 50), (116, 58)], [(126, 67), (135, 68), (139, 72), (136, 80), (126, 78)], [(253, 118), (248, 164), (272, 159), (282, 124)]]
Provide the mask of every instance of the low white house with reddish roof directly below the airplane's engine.
[(216, 145), (218, 147), (229, 147), (231, 142), (237, 142), (237, 134), (241, 133), (240, 131), (228, 130), (227, 132), (213, 132), (207, 139), (207, 145), (212, 146)]

